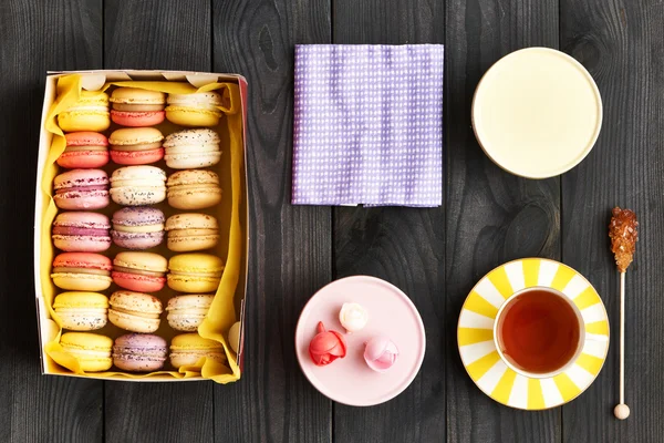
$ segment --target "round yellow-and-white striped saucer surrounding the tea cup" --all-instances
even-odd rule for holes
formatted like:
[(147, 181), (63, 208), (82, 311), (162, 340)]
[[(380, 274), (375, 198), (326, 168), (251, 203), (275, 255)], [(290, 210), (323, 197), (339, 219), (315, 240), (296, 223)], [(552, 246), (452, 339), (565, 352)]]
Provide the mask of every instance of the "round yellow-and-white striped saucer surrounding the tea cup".
[[(543, 286), (568, 296), (583, 316), (585, 343), (575, 363), (549, 379), (531, 379), (509, 369), (494, 343), (494, 320), (513, 292)], [(537, 411), (564, 404), (598, 377), (609, 350), (609, 319), (600, 296), (574, 269), (546, 258), (507, 262), (473, 288), (459, 316), (459, 353), (468, 375), (491, 399), (511, 408)]]

